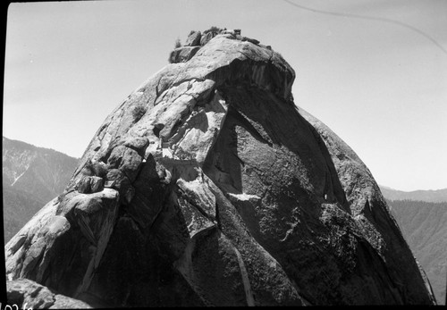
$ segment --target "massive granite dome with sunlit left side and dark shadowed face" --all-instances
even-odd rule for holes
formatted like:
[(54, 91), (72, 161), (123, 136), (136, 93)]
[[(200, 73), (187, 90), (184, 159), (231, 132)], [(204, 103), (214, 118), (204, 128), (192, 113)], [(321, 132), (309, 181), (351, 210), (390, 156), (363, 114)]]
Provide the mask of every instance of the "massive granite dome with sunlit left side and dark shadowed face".
[(187, 42), (6, 245), (9, 278), (114, 306), (433, 304), (367, 167), (294, 105), (283, 57), (240, 31)]

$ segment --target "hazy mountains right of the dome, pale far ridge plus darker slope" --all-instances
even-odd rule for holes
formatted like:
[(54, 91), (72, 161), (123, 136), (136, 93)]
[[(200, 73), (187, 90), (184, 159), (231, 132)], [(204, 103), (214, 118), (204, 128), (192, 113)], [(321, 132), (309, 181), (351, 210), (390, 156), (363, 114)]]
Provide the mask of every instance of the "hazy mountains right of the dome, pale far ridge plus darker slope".
[(426, 271), (438, 305), (445, 305), (447, 189), (406, 192), (379, 187), (404, 239)]

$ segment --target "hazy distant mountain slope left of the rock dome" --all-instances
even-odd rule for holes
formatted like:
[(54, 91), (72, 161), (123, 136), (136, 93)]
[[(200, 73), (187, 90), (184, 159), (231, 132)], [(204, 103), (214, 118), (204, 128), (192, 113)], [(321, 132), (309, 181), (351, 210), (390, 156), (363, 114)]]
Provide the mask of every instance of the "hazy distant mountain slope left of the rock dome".
[(3, 137), (5, 242), (42, 206), (63, 192), (78, 162), (53, 149)]

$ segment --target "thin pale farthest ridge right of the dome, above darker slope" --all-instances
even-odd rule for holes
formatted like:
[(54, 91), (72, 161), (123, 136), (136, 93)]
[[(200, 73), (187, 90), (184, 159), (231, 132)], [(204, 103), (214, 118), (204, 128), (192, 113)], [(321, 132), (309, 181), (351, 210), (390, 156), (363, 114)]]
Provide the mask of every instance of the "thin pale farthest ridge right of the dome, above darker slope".
[(385, 198), (390, 200), (418, 200), (432, 203), (447, 202), (447, 189), (428, 189), (428, 190), (412, 190), (403, 191), (392, 189), (384, 185), (379, 185), (380, 190)]

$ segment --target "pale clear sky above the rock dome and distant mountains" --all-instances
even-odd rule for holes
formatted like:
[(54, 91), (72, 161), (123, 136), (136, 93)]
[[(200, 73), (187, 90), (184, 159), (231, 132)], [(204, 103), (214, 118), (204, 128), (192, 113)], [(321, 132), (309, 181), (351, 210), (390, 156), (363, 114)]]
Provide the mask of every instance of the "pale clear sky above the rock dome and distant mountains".
[(80, 157), (177, 38), (241, 29), (296, 71), (295, 104), (393, 189), (447, 188), (447, 1), (12, 3), (3, 135)]

